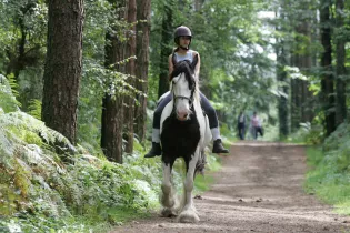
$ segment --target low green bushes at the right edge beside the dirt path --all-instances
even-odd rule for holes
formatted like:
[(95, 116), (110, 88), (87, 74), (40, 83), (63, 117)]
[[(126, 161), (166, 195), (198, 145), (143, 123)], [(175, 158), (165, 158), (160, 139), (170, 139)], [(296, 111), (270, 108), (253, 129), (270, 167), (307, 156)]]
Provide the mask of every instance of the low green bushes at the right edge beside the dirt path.
[(320, 148), (308, 149), (308, 172), (306, 189), (316, 193), (337, 212), (350, 214), (350, 145), (349, 124), (341, 124)]

